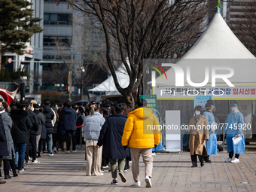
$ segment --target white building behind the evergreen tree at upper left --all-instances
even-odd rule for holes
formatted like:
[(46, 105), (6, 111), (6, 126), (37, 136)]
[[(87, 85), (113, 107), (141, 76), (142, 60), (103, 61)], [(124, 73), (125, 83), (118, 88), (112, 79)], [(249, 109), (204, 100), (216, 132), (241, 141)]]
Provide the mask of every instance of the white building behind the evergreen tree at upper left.
[[(33, 17), (44, 17), (44, 0), (28, 0), (32, 2), (31, 8), (34, 10)], [(38, 25), (43, 28), (43, 20)], [(26, 50), (24, 55), (17, 53), (6, 52), (5, 56), (11, 58), (13, 62), (8, 63), (8, 69), (16, 72), (18, 69), (25, 69), (30, 78), (26, 81), (26, 86), (29, 87), (29, 93), (38, 90), (41, 85), (42, 66), (38, 61), (43, 59), (43, 32), (36, 33), (30, 38), (30, 42), (26, 43)]]

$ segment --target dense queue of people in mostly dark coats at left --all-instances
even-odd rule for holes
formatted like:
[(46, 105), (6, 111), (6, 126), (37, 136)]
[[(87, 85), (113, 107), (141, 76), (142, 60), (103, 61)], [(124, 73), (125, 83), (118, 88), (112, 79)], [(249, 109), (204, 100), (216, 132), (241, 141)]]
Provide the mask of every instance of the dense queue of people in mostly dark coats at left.
[[(38, 105), (35, 100), (14, 100), (10, 108), (7, 108), (4, 100), (0, 99), (0, 168), (3, 160), (5, 179), (11, 178), (10, 171), (17, 177), (18, 174), (26, 172), (25, 166), (28, 164), (41, 163), (38, 160), (41, 152), (50, 157), (53, 156), (53, 151), (57, 153), (58, 149), (69, 153), (70, 134), (73, 152), (76, 152), (75, 147), (80, 144), (80, 139), (76, 138), (80, 137), (84, 110), (75, 106), (72, 108), (72, 116), (67, 117), (71, 103), (66, 102), (64, 105), (64, 108), (62, 103), (51, 105), (49, 99), (45, 99), (42, 105)], [(70, 129), (72, 120), (75, 121), (75, 127)], [(5, 182), (0, 180), (0, 184)]]

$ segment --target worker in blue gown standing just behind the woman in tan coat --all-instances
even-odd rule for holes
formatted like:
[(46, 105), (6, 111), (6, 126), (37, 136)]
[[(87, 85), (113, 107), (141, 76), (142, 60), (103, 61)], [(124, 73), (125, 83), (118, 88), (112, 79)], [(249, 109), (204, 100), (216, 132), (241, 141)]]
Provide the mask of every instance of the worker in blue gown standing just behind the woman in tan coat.
[(217, 154), (217, 137), (215, 133), (215, 117), (212, 114), (214, 108), (214, 102), (212, 100), (208, 100), (206, 103), (206, 111), (203, 112), (203, 116), (208, 120), (209, 126), (207, 129), (209, 130), (209, 140), (206, 141), (206, 151), (208, 153), (207, 157), (203, 157), (206, 163), (211, 163), (209, 160), (209, 156), (211, 154)]

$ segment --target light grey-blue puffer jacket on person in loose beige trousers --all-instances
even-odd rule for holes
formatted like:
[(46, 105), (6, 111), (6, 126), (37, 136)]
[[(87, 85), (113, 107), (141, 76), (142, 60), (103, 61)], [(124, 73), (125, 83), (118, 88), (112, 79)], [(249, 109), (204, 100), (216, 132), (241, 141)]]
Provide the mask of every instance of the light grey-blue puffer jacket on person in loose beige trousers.
[(91, 114), (84, 118), (84, 139), (87, 140), (98, 140), (100, 130), (105, 123), (105, 118), (98, 112), (94, 112), (94, 115)]

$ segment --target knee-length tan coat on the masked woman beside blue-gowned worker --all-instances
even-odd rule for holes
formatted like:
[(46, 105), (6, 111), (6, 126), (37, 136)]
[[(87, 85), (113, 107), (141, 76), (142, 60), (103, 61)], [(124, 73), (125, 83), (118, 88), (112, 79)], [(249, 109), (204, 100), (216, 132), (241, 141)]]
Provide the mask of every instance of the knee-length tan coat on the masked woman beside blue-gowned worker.
[[(194, 117), (191, 118), (188, 127), (190, 130), (189, 137), (189, 149), (190, 155), (199, 154), (206, 157), (206, 141), (209, 140), (209, 132), (207, 130), (208, 120), (206, 117), (202, 116), (195, 126)], [(200, 129), (201, 126), (201, 129)]]

